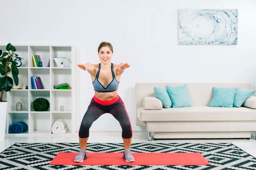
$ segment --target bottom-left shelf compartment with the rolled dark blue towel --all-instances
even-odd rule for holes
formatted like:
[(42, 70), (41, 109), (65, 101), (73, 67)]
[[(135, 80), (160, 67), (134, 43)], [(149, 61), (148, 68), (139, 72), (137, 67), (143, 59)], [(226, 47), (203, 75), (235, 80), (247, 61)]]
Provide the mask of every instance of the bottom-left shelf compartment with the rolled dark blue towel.
[[(16, 122), (25, 122), (29, 126), (29, 116), (28, 113), (7, 113), (7, 126), (6, 133), (9, 134), (9, 126)], [(11, 134), (28, 134), (28, 131), (23, 133), (11, 133)]]

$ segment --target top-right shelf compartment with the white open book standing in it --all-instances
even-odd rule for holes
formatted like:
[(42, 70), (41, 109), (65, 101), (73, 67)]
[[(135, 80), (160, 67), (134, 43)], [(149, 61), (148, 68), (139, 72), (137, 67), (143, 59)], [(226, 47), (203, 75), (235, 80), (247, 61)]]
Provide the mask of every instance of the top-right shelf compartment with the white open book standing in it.
[(72, 47), (71, 46), (51, 46), (51, 63), (50, 66), (52, 68), (59, 68), (58, 65), (55, 63), (53, 57), (67, 57), (71, 60), (72, 56)]

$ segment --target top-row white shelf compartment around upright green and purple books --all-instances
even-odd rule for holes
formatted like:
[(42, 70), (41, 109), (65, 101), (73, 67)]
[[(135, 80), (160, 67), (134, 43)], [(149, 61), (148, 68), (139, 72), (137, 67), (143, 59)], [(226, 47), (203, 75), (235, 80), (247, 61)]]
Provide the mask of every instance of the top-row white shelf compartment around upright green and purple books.
[(39, 55), (43, 62), (43, 67), (47, 67), (47, 63), (50, 58), (49, 46), (29, 46), (29, 66), (34, 67), (32, 55)]

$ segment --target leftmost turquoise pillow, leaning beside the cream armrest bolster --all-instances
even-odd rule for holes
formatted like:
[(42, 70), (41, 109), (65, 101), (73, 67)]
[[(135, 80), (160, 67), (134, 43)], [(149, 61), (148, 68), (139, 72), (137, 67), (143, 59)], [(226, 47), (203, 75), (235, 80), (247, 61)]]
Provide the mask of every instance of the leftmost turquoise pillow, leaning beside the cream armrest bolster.
[(169, 108), (172, 105), (171, 99), (165, 89), (154, 87), (155, 96), (161, 100), (164, 108)]

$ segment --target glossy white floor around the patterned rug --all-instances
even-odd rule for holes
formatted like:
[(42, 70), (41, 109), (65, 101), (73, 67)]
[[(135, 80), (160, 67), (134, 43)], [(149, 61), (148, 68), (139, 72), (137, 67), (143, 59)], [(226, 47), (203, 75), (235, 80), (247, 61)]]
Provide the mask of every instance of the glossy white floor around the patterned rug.
[[(121, 132), (90, 132), (88, 143), (122, 143)], [(132, 143), (147, 141), (146, 132), (133, 132)], [(79, 143), (78, 134), (74, 136), (28, 136), (5, 137), (0, 141), (0, 153), (15, 143)], [(232, 143), (250, 155), (256, 157), (255, 132), (251, 139), (163, 139), (149, 143)]]

